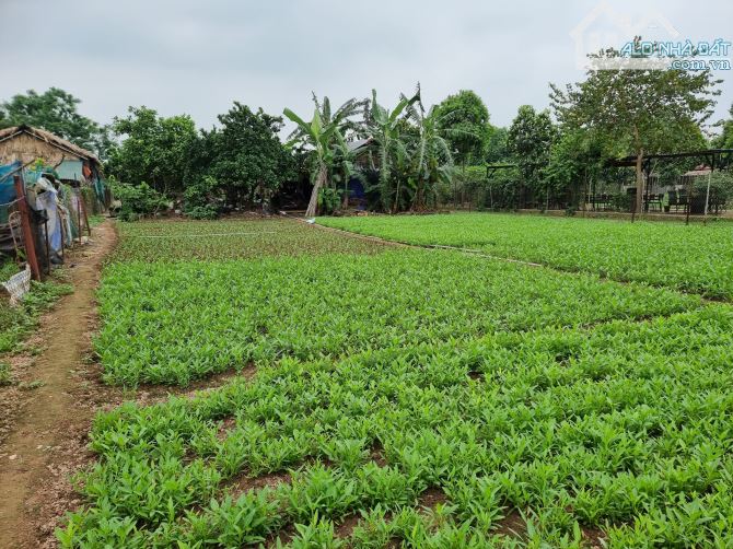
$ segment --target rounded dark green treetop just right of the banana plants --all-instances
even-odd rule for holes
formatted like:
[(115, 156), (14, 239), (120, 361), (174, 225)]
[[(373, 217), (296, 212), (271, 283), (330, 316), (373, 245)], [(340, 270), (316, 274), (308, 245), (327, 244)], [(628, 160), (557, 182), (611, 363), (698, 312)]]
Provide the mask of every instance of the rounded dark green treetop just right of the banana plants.
[(461, 90), (438, 105), (438, 116), (441, 127), (452, 130), (449, 141), (455, 161), (463, 166), (482, 163), (492, 129), (484, 101), (470, 90)]

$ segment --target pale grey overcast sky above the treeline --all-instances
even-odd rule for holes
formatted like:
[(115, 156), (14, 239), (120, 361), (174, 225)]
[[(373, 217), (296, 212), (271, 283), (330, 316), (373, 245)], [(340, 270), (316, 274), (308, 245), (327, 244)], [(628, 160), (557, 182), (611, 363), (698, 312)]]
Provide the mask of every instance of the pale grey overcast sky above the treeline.
[[(0, 0), (0, 98), (58, 86), (103, 124), (129, 105), (147, 105), (210, 127), (234, 100), (310, 117), (311, 91), (340, 104), (376, 87), (381, 102), (393, 105), (420, 81), (427, 104), (474, 90), (491, 121), (504, 126), (522, 104), (546, 107), (548, 82), (582, 78), (574, 28), (585, 49), (639, 27), (644, 37), (733, 39), (730, 0), (605, 7), (595, 0)], [(733, 71), (717, 75), (724, 79), (715, 115), (722, 118), (733, 103)]]

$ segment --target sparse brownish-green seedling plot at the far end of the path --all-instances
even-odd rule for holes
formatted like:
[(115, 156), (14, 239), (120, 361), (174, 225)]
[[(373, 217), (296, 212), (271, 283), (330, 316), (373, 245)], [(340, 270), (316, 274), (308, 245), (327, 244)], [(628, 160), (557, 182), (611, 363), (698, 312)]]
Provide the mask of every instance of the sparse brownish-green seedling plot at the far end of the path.
[(261, 256), (373, 254), (384, 246), (287, 219), (119, 223), (117, 261), (217, 260)]

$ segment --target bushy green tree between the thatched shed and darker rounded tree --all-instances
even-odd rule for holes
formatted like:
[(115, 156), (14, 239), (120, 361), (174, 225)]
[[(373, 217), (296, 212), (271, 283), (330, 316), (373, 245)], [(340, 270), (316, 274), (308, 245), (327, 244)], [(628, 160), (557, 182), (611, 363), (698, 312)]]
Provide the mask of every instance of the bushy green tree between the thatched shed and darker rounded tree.
[(112, 129), (125, 137), (113, 150), (109, 172), (119, 180), (148, 183), (164, 195), (183, 190), (188, 153), (196, 125), (188, 115), (159, 117), (148, 107), (129, 107), (129, 116), (115, 117)]

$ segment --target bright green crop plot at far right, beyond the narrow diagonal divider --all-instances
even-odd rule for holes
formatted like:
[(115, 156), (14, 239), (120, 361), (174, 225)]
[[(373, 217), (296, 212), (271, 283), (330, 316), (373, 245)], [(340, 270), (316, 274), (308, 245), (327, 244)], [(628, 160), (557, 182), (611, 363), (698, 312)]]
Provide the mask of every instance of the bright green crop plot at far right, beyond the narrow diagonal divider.
[(323, 218), (318, 223), (733, 300), (733, 223), (686, 226), (488, 213)]

